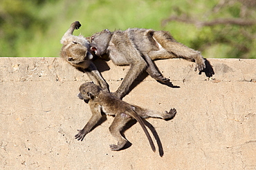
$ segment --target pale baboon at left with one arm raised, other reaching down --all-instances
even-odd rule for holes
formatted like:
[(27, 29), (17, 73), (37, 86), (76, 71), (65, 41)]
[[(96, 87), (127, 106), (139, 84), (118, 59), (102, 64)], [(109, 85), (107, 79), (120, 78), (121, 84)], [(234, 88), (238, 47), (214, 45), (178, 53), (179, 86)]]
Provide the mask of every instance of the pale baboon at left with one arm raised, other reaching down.
[(73, 22), (64, 36), (62, 36), (60, 42), (63, 46), (60, 56), (77, 70), (85, 72), (91, 78), (91, 81), (98, 83), (105, 91), (109, 92), (109, 85), (91, 62), (93, 55), (89, 52), (89, 41), (82, 35), (73, 35), (73, 31), (79, 29), (80, 26), (79, 21)]

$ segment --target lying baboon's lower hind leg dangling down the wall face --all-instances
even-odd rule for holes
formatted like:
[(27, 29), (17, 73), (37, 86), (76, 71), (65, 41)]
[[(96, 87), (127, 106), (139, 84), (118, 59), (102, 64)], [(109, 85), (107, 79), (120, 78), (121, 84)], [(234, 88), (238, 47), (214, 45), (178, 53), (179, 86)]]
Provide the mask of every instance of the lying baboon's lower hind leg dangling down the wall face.
[(156, 65), (154, 65), (152, 59), (150, 59), (148, 55), (144, 55), (144, 57), (145, 57), (145, 61), (147, 61), (147, 64), (148, 64), (146, 72), (149, 74), (149, 76), (152, 76), (152, 78), (156, 79), (156, 81), (161, 81), (161, 82), (170, 81), (169, 78), (163, 77), (161, 72), (159, 72), (156, 69)]

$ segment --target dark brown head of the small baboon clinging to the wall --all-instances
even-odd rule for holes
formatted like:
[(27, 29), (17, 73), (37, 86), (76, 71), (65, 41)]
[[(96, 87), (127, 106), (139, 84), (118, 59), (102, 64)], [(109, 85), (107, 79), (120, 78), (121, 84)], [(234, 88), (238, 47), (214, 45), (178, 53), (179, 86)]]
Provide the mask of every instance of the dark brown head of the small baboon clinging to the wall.
[(95, 96), (98, 96), (100, 90), (102, 89), (93, 82), (86, 82), (80, 86), (79, 90), (80, 93), (77, 95), (77, 97), (84, 100), (85, 103), (88, 103), (89, 100), (93, 100)]

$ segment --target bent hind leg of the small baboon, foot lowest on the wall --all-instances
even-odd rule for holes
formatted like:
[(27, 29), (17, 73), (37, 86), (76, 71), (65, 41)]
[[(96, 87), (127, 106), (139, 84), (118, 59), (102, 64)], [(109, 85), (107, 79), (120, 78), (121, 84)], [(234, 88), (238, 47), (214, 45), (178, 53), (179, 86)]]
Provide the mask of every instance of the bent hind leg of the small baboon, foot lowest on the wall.
[(128, 123), (129, 120), (131, 119), (131, 116), (128, 116), (124, 113), (117, 114), (113, 119), (113, 123), (109, 127), (109, 131), (113, 138), (115, 138), (118, 141), (118, 145), (109, 145), (111, 150), (118, 151), (122, 149), (122, 147), (124, 147), (127, 143), (127, 140), (124, 137), (122, 137), (120, 131), (122, 131), (123, 127), (125, 127), (126, 123)]

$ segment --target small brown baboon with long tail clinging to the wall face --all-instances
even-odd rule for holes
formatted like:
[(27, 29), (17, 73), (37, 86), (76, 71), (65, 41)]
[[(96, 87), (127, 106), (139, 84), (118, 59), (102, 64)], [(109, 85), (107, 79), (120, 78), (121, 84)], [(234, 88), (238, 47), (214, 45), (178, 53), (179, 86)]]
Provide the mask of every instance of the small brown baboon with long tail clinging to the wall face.
[(112, 96), (108, 92), (102, 91), (100, 86), (90, 82), (80, 86), (80, 94), (78, 94), (78, 97), (84, 99), (86, 103), (89, 103), (92, 116), (82, 130), (77, 130), (79, 133), (75, 135), (75, 138), (82, 141), (84, 136), (86, 136), (86, 134), (88, 134), (102, 118), (103, 112), (104, 114), (115, 116), (113, 123), (109, 127), (111, 135), (118, 141), (118, 145), (109, 145), (111, 150), (114, 151), (122, 149), (127, 143), (127, 140), (122, 137), (120, 131), (122, 131), (123, 127), (125, 127), (129, 120), (132, 120), (133, 118), (140, 123), (141, 127), (143, 127), (152, 150), (156, 151), (152, 138), (150, 137), (142, 118), (154, 117), (168, 120), (173, 118), (176, 114), (176, 109), (170, 109), (169, 112), (165, 111), (164, 113), (158, 113), (157, 111), (150, 111), (136, 105), (130, 105), (129, 103)]

